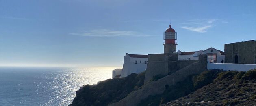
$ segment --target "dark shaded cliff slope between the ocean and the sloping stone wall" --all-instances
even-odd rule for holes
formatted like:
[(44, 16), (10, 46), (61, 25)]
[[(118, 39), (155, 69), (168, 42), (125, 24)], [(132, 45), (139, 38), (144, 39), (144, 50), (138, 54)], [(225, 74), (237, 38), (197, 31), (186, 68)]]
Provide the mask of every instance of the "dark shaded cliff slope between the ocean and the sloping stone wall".
[(144, 84), (145, 72), (102, 81), (96, 86), (85, 85), (76, 91), (69, 106), (107, 106), (118, 102)]

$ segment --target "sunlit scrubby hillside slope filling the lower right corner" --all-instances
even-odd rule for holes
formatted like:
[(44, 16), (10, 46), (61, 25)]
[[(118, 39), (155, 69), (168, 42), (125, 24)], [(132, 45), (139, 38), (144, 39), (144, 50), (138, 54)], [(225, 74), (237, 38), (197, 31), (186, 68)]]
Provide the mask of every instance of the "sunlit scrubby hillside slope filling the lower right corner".
[(162, 106), (255, 106), (256, 69), (247, 72), (226, 71), (191, 94)]

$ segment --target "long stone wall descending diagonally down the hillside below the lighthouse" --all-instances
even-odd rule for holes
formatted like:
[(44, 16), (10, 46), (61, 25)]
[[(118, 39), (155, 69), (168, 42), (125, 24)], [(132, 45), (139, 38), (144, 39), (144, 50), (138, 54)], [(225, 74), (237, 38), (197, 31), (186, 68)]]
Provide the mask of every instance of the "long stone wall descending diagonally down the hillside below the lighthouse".
[(190, 64), (183, 69), (167, 75), (157, 81), (147, 83), (140, 87), (140, 89), (129, 94), (119, 102), (109, 104), (108, 106), (136, 106), (141, 100), (150, 95), (162, 94), (165, 91), (165, 85), (174, 85), (177, 82), (183, 81), (190, 75), (200, 74), (202, 71), (207, 70), (207, 56), (200, 55), (199, 62)]

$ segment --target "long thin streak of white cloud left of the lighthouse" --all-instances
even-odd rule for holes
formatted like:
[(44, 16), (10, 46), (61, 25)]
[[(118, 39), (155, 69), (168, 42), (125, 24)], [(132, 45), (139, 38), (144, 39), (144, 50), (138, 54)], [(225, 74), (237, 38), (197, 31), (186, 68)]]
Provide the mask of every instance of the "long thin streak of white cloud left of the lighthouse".
[(83, 33), (69, 33), (70, 35), (88, 36), (88, 37), (116, 37), (116, 36), (154, 36), (139, 34), (134, 31), (111, 31), (108, 29), (98, 29), (92, 31), (84, 31)]

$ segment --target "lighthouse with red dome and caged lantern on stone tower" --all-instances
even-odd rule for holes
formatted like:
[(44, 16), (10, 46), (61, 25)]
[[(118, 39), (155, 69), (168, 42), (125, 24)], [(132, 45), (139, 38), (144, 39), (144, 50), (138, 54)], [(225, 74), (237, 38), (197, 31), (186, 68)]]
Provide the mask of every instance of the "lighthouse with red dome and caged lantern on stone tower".
[(173, 53), (176, 52), (175, 42), (177, 40), (177, 32), (171, 28), (171, 25), (163, 34), (163, 39), (165, 40), (164, 45), (164, 53)]

